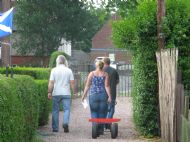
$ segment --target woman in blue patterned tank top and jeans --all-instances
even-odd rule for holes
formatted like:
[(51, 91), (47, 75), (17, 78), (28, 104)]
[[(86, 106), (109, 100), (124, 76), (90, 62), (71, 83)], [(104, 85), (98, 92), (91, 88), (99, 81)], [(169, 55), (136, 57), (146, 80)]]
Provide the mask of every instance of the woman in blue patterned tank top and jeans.
[[(91, 118), (106, 118), (107, 104), (111, 102), (109, 77), (106, 72), (103, 71), (103, 61), (97, 61), (95, 63), (95, 71), (89, 73), (87, 82), (82, 95), (82, 101), (84, 101), (89, 91), (89, 104)], [(94, 123), (92, 123), (93, 125)], [(103, 134), (104, 125), (101, 124), (98, 127), (98, 133)]]

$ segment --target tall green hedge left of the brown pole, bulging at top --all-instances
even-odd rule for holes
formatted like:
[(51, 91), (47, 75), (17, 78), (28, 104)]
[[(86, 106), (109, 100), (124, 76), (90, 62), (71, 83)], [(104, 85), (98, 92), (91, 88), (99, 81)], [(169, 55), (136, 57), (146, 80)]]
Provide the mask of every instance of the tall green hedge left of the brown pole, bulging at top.
[(133, 118), (142, 135), (159, 135), (156, 2), (141, 1), (134, 13), (116, 22), (115, 43), (133, 53)]

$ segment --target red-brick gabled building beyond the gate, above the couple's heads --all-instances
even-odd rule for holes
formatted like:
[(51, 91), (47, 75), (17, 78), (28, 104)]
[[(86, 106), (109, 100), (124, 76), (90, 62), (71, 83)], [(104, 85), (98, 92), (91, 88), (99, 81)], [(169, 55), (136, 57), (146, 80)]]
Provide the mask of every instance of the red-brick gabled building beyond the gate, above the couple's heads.
[(103, 27), (92, 38), (92, 49), (90, 53), (91, 63), (96, 57), (107, 56), (115, 58), (116, 63), (130, 64), (131, 54), (125, 49), (118, 49), (111, 40), (112, 36), (112, 21), (118, 20), (119, 17), (113, 15)]

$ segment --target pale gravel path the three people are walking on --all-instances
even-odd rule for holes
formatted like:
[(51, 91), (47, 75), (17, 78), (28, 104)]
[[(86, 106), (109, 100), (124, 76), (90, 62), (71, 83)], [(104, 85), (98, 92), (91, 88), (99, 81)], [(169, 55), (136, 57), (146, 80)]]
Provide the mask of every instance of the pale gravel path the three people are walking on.
[(111, 139), (110, 132), (105, 132), (97, 139), (91, 138), (91, 123), (89, 108), (84, 109), (80, 98), (73, 99), (70, 116), (69, 133), (62, 128), (62, 115), (60, 112), (59, 132), (53, 133), (51, 129), (51, 115), (48, 125), (39, 129), (39, 134), (45, 142), (144, 142), (138, 138), (132, 122), (132, 100), (130, 97), (118, 97), (115, 118), (121, 118), (117, 139)]

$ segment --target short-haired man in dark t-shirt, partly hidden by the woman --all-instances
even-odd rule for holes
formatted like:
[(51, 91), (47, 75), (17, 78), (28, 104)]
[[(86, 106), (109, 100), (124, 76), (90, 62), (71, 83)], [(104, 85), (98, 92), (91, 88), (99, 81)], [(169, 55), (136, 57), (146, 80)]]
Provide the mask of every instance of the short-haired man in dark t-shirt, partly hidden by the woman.
[(117, 84), (119, 83), (119, 74), (116, 69), (110, 67), (110, 59), (105, 57), (104, 71), (108, 73), (109, 84), (111, 88), (112, 102), (108, 105), (107, 118), (113, 118), (115, 112), (116, 96), (117, 96)]

